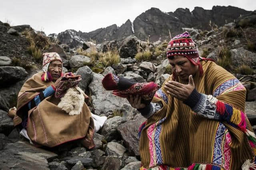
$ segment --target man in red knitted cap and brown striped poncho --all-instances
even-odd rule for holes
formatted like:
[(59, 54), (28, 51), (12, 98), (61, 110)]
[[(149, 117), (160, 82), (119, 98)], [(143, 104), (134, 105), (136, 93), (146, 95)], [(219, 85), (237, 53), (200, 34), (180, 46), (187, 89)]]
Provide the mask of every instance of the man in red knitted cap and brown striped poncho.
[(244, 113), (246, 89), (198, 55), (188, 32), (167, 47), (172, 75), (150, 104), (128, 101), (147, 118), (139, 131), (140, 170), (251, 170), (256, 136)]

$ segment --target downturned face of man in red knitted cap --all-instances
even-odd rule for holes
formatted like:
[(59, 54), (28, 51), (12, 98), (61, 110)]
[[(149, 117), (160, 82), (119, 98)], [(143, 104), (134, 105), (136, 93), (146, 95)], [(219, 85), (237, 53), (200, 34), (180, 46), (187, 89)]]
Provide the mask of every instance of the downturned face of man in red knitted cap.
[(192, 64), (187, 57), (182, 55), (176, 55), (172, 59), (168, 59), (169, 63), (172, 66), (172, 71), (184, 81), (188, 81), (190, 74), (194, 76), (198, 70), (198, 66)]

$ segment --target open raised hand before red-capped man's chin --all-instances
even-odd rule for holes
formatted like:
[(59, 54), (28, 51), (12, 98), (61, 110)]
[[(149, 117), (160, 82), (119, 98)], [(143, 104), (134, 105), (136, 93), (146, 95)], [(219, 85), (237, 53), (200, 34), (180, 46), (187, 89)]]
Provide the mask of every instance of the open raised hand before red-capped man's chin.
[(195, 88), (192, 75), (190, 75), (188, 78), (188, 84), (181, 84), (175, 81), (168, 81), (164, 85), (164, 88), (166, 89), (168, 94), (181, 101), (187, 100), (188, 96), (192, 93), (192, 91)]

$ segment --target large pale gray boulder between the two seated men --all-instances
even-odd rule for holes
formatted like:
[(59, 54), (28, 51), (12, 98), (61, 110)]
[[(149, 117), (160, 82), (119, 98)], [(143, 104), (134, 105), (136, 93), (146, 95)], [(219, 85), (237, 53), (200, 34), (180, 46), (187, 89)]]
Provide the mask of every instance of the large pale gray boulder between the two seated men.
[(106, 91), (102, 84), (101, 74), (92, 74), (92, 82), (89, 85), (92, 94), (92, 105), (96, 115), (111, 115), (114, 110), (120, 110), (123, 104), (128, 103), (125, 98), (113, 96), (111, 91)]

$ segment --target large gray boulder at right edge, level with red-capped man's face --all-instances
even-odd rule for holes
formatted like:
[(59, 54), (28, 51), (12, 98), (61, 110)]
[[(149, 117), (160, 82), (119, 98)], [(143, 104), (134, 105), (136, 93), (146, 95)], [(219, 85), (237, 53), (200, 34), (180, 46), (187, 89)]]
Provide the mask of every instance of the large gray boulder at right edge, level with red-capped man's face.
[(232, 49), (230, 52), (233, 65), (240, 66), (246, 63), (251, 68), (256, 69), (256, 53), (252, 53), (243, 47)]

